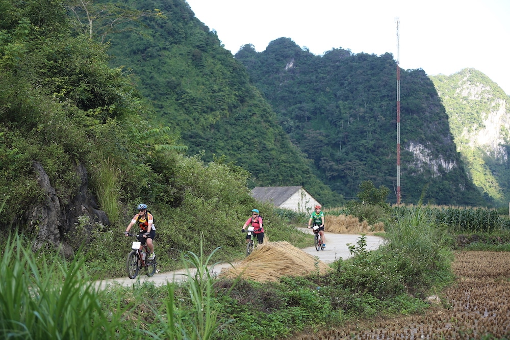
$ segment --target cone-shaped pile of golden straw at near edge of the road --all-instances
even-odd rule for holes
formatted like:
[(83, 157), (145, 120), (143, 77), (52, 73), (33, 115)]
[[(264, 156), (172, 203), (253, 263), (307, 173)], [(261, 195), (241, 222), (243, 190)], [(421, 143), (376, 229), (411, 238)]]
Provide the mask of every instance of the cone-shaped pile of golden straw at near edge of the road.
[(305, 276), (331, 270), (325, 263), (305, 253), (288, 242), (267, 242), (259, 245), (248, 257), (223, 269), (219, 277), (244, 279), (258, 282), (278, 281), (282, 276)]

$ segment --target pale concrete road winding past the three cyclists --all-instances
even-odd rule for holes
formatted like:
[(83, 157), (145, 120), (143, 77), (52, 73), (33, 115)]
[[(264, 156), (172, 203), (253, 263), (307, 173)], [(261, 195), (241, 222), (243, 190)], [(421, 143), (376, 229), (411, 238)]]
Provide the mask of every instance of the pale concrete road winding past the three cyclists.
[[(311, 229), (308, 228), (298, 228), (303, 232), (312, 233)], [(325, 263), (332, 263), (340, 258), (347, 259), (350, 256), (349, 248), (347, 244), (356, 245), (361, 235), (352, 235), (352, 234), (336, 234), (336, 233), (325, 233), (326, 238), (326, 248), (324, 250), (317, 251), (315, 247), (302, 248), (304, 252), (311, 254), (313, 256), (317, 256), (321, 261)], [(366, 236), (367, 238), (367, 249), (374, 250), (377, 249), (380, 245), (384, 243), (384, 239), (378, 236)], [(210, 272), (213, 274), (218, 274), (221, 272), (223, 268), (230, 267), (230, 264), (221, 263), (209, 268)], [(138, 281), (153, 281), (155, 284), (166, 284), (168, 281), (180, 281), (186, 279), (186, 270), (177, 270), (173, 272), (165, 272), (165, 273), (156, 273), (152, 277), (147, 277), (144, 272), (139, 273), (139, 275), (135, 279), (130, 279), (126, 277), (120, 277), (111, 280), (99, 281), (99, 286), (104, 289), (107, 285), (112, 282), (118, 282), (125, 286), (130, 286)], [(194, 274), (194, 271), (191, 272)]]

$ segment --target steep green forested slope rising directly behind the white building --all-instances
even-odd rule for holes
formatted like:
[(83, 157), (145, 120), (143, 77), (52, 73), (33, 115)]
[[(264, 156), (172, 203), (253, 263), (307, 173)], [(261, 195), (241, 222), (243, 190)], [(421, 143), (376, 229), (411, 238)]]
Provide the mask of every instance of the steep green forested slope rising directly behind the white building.
[(224, 156), (252, 174), (251, 186), (303, 185), (328, 205), (344, 202), (312, 171), (311, 162), (278, 124), (241, 63), (225, 50), (183, 0), (131, 2), (162, 11), (138, 32), (112, 35), (111, 64), (132, 69), (159, 119), (182, 138), (188, 154)]

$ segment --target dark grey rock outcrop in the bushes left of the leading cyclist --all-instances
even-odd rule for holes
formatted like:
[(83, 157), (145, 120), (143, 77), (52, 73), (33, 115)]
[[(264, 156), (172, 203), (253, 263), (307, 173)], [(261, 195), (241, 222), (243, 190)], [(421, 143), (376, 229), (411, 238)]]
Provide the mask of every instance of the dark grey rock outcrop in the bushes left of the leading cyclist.
[(65, 236), (75, 234), (79, 223), (78, 218), (85, 217), (80, 219), (81, 223), (85, 221), (85, 228), (81, 232), (90, 234), (92, 228), (98, 224), (109, 225), (108, 216), (104, 211), (98, 210), (94, 196), (88, 191), (87, 170), (82, 164), (76, 167), (77, 176), (81, 179), (80, 188), (65, 205), (52, 187), (42, 165), (34, 162), (33, 167), (37, 181), (46, 193), (46, 198), (30, 207), (23, 216), (24, 221), (21, 222), (27, 225), (30, 233), (36, 235), (32, 244), (34, 251), (42, 247), (61, 247), (61, 252), (69, 256), (73, 252), (73, 247)]

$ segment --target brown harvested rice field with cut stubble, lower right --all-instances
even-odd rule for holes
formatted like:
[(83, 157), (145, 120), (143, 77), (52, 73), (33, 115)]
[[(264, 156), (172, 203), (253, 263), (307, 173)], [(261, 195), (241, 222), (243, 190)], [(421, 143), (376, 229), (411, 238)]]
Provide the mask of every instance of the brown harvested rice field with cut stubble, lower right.
[(457, 252), (452, 269), (455, 284), (431, 299), (438, 305), (423, 316), (365, 322), (293, 339), (509, 338), (510, 252)]

